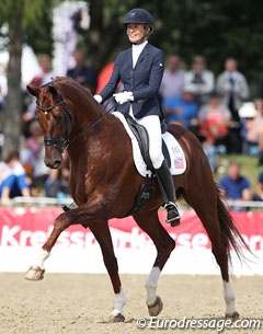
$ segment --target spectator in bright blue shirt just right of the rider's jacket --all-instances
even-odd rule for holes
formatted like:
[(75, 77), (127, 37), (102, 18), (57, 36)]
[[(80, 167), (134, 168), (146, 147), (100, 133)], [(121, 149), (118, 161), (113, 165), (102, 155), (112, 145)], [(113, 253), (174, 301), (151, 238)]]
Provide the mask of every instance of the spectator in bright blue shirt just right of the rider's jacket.
[(191, 130), (196, 125), (198, 108), (191, 88), (184, 88), (181, 96), (165, 100), (163, 111), (168, 123), (180, 123)]

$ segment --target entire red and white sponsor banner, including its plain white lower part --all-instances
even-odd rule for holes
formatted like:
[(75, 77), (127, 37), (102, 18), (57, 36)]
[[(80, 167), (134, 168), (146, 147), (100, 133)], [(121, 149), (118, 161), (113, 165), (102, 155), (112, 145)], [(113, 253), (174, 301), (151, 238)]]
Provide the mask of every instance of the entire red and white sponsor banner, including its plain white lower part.
[[(48, 238), (60, 208), (2, 208), (0, 221), (0, 272), (24, 272), (34, 254)], [(263, 275), (263, 212), (232, 212), (244, 240), (256, 257), (245, 252), (247, 264), (233, 255), (235, 275)], [(163, 273), (219, 274), (211, 254), (207, 233), (193, 210), (182, 212), (182, 222), (171, 228), (164, 222), (165, 211), (159, 211), (160, 221), (176, 242)], [(149, 222), (150, 223), (150, 222)], [(111, 233), (121, 273), (149, 273), (155, 262), (156, 247), (132, 217), (112, 219)], [(64, 231), (50, 258), (47, 272), (106, 273), (101, 250), (89, 229), (76, 224)]]

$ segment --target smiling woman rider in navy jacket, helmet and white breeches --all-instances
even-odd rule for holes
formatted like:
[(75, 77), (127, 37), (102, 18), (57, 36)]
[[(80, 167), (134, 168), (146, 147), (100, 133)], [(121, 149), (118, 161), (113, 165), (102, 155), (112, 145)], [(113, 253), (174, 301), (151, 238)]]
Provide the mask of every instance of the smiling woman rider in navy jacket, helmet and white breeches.
[[(118, 54), (112, 77), (94, 99), (102, 103), (110, 96), (117, 102), (117, 111), (129, 115), (145, 126), (149, 136), (149, 156), (165, 201), (167, 222), (180, 223), (175, 189), (167, 160), (162, 154), (161, 122), (162, 111), (158, 102), (158, 91), (163, 74), (164, 53), (148, 43), (153, 32), (152, 16), (144, 9), (130, 10), (124, 20), (132, 48)], [(123, 82), (124, 91), (113, 94)]]

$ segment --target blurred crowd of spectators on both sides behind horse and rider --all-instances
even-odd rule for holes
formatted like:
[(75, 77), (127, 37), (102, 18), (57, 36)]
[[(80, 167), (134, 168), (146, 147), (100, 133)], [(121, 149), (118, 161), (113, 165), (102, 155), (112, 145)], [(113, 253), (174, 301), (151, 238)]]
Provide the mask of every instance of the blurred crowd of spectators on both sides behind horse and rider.
[[(76, 65), (68, 69), (67, 76), (94, 94), (98, 85), (95, 71), (87, 65), (81, 49), (76, 49), (72, 57)], [(41, 72), (31, 81), (37, 87), (56, 77), (47, 55), (39, 56), (38, 62)], [(5, 95), (7, 81), (3, 72), (0, 72), (1, 116)], [(169, 55), (159, 96), (167, 123), (179, 123), (196, 135), (213, 172), (217, 171), (220, 153), (258, 156), (259, 164), (263, 165), (263, 96), (253, 102), (253, 113), (240, 116), (241, 106), (250, 101), (250, 90), (245, 76), (238, 69), (237, 59), (226, 59), (221, 72), (216, 76), (202, 55), (195, 55), (188, 67), (183, 64), (180, 55)], [(22, 146), (19, 152), (11, 152), (11, 158), (0, 164), (1, 204), (8, 204), (13, 196), (69, 197), (68, 157), (65, 156), (58, 171), (45, 166), (43, 135), (34, 119), (36, 101), (28, 94), (25, 101)], [(230, 186), (230, 194), (236, 192), (236, 199), (263, 200), (263, 172), (259, 175), (254, 194), (250, 193), (250, 183), (240, 174), (240, 165), (235, 162), (229, 164), (226, 175), (218, 183), (222, 196), (227, 198), (232, 196), (228, 196), (227, 186)], [(245, 191), (239, 192), (241, 183), (245, 184)]]

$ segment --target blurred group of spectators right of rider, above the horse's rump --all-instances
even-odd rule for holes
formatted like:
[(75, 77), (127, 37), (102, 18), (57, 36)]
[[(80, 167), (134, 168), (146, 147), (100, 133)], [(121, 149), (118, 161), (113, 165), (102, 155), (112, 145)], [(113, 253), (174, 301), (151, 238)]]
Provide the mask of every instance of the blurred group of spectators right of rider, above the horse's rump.
[[(188, 70), (182, 68), (180, 56), (170, 55), (160, 89), (167, 122), (179, 122), (196, 134), (213, 171), (216, 171), (218, 152), (222, 150), (251, 154), (250, 146), (253, 145), (253, 154), (260, 157), (262, 131), (260, 126), (255, 130), (254, 125), (259, 124), (262, 114), (259, 112), (253, 119), (240, 117), (240, 107), (249, 101), (250, 90), (245, 76), (238, 69), (238, 61), (226, 59), (218, 76), (209, 70), (202, 55), (193, 57)], [(255, 108), (260, 108), (259, 101)], [(263, 154), (259, 163), (263, 163)]]

